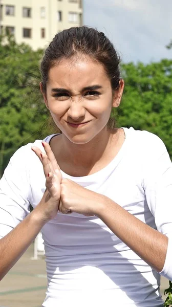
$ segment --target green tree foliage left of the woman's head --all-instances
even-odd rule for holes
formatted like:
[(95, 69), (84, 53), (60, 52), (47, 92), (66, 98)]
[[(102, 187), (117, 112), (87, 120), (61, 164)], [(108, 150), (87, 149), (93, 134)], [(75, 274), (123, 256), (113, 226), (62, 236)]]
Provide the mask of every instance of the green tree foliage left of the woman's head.
[[(38, 64), (42, 50), (17, 45), (12, 36), (0, 36), (0, 172), (13, 152), (45, 134), (47, 109), (39, 91)], [(0, 173), (0, 178), (1, 178)]]

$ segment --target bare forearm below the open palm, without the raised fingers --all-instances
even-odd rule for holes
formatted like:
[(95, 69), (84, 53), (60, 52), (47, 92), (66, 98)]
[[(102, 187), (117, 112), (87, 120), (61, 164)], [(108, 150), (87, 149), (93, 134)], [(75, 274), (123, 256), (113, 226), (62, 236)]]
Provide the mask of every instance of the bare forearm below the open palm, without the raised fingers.
[[(52, 185), (51, 189), (53, 189)], [(59, 199), (54, 198), (46, 190), (36, 208), (0, 239), (0, 280), (28, 249), (41, 228), (57, 214), (58, 203)]]

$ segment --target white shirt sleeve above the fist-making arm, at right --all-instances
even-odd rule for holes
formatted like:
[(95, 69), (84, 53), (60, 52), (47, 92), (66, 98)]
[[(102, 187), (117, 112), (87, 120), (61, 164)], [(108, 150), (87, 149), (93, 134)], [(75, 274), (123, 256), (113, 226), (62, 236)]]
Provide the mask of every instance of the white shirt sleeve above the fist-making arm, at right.
[(162, 276), (172, 280), (172, 164), (164, 143), (155, 135), (148, 147), (144, 190), (157, 230), (168, 237)]

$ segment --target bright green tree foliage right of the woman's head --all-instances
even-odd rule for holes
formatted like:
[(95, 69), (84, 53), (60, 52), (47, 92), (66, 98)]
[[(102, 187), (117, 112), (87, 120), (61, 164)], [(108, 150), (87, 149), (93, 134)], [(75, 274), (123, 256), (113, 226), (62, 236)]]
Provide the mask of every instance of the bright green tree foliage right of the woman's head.
[(119, 125), (158, 135), (172, 157), (172, 60), (121, 65), (125, 80)]

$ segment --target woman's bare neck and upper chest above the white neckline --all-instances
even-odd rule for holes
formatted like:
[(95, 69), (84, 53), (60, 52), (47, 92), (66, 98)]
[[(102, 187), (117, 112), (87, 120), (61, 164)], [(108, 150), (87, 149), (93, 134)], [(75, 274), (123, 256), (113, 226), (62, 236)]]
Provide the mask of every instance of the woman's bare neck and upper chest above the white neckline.
[[(54, 137), (50, 146), (60, 169), (71, 176), (87, 176), (106, 166), (119, 151), (119, 131), (103, 130), (86, 144), (75, 144), (65, 135)], [(124, 141), (124, 140), (123, 140)], [(122, 143), (123, 143), (122, 141)]]

